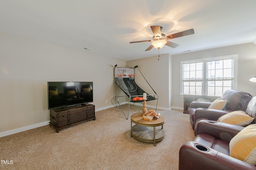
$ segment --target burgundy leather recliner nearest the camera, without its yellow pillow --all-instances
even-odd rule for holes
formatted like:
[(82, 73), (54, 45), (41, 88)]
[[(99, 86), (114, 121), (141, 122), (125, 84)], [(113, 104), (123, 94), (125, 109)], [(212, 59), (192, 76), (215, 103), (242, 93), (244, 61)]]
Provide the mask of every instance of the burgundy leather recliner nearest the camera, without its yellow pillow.
[[(256, 123), (256, 96), (245, 111)], [(256, 166), (230, 156), (230, 141), (245, 127), (202, 118), (196, 138), (180, 148), (179, 170), (256, 170)]]

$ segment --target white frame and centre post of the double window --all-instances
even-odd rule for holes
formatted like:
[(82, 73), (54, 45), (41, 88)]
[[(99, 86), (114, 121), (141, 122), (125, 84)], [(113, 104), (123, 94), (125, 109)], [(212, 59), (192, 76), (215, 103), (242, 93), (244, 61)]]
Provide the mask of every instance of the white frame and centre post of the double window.
[[(183, 95), (183, 64), (190, 64), (190, 63), (203, 63), (203, 79), (202, 79), (202, 95), (207, 96), (207, 79), (206, 79), (206, 63), (210, 61), (218, 61), (218, 60), (225, 60), (225, 59), (234, 59), (234, 78), (233, 78), (233, 90), (237, 89), (237, 64), (238, 64), (238, 55), (225, 55), (219, 57), (210, 57), (210, 58), (202, 58), (202, 59), (194, 59), (194, 60), (187, 60), (187, 61), (180, 61), (180, 95)], [(196, 79), (194, 80), (196, 82)]]

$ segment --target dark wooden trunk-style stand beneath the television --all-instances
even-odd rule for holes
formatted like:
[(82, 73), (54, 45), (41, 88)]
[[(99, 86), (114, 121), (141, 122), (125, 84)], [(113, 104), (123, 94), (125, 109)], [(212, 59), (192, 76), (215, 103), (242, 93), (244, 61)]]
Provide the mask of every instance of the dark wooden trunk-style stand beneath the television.
[(96, 119), (95, 106), (92, 104), (50, 109), (50, 125), (56, 129), (57, 133), (64, 127), (91, 119)]

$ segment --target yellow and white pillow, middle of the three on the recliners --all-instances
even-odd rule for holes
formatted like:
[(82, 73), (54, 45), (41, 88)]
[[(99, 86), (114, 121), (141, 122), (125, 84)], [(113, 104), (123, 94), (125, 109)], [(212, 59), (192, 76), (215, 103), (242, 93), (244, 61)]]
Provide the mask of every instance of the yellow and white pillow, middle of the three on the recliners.
[(223, 115), (217, 121), (232, 125), (246, 126), (249, 125), (253, 119), (253, 117), (250, 117), (244, 111), (238, 110)]

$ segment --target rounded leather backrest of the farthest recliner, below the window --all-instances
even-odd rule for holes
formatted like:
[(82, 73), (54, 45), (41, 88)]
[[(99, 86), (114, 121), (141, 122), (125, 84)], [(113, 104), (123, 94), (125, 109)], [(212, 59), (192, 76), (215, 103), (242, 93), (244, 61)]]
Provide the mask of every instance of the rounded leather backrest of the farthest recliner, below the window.
[(248, 103), (252, 99), (252, 95), (238, 90), (226, 90), (222, 94), (221, 99), (227, 101), (226, 107), (224, 108), (226, 110), (246, 111)]

